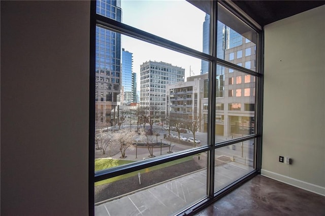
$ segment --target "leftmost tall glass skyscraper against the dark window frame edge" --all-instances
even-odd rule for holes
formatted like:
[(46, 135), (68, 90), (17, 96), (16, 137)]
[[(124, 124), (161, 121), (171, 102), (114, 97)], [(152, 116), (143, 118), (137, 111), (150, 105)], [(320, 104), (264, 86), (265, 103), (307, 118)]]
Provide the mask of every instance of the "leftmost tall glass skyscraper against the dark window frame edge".
[[(121, 2), (97, 0), (96, 13), (121, 21)], [(96, 27), (95, 123), (115, 124), (120, 94), (121, 35)]]

